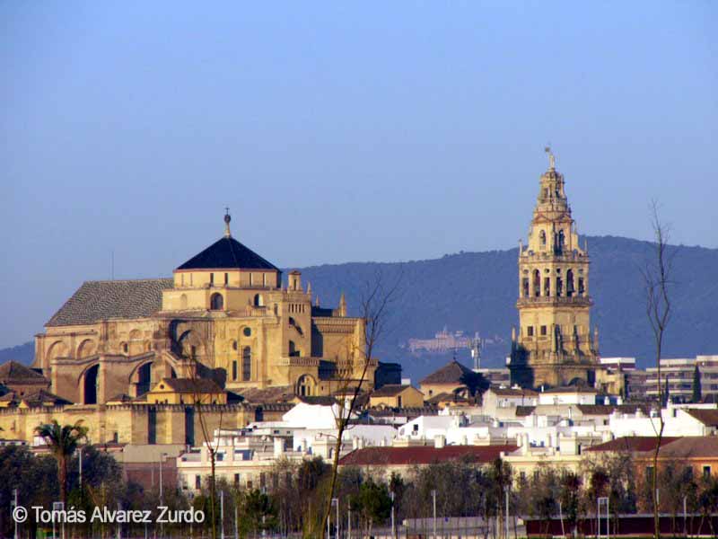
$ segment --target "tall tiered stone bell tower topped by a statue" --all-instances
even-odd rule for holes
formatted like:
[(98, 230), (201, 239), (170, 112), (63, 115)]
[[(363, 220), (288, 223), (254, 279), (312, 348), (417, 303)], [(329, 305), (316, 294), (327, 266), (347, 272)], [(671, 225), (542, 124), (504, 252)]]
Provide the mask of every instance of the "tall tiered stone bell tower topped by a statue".
[(541, 175), (529, 244), (519, 246), (519, 332), (512, 331), (512, 384), (590, 385), (598, 366), (598, 332), (591, 336), (588, 246), (578, 233), (550, 148)]

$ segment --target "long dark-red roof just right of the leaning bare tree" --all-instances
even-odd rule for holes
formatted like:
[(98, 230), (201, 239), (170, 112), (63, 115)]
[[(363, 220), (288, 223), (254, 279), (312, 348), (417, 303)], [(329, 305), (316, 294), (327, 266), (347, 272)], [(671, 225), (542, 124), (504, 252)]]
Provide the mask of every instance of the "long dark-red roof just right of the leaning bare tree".
[(475, 463), (489, 463), (502, 452), (510, 453), (518, 446), (433, 446), (365, 447), (352, 451), (339, 461), (341, 465), (434, 464), (466, 459)]

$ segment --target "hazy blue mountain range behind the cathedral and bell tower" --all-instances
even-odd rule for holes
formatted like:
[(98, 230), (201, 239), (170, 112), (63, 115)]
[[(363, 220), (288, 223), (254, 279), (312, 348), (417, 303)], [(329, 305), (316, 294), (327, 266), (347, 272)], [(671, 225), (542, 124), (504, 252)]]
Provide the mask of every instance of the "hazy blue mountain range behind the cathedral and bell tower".
[[(614, 236), (585, 239), (591, 256), (589, 287), (595, 302), (591, 322), (599, 327), (600, 353), (604, 357), (635, 357), (646, 367), (652, 363), (654, 351), (639, 269), (652, 260), (654, 246)], [(677, 249), (671, 291), (673, 316), (663, 356), (718, 354), (718, 249)], [(416, 357), (409, 353), (406, 343), (411, 338), (430, 339), (444, 326), (469, 335), (479, 331), (492, 338), (494, 342), (483, 350), (483, 365), (503, 365), (510, 350), (512, 326), (518, 325), (517, 258), (518, 249), (510, 249), (460, 252), (427, 261), (353, 262), (300, 270), (303, 283), (311, 282), (322, 306), (336, 306), (341, 292), (346, 292), (349, 314), (359, 314), (363, 290), (371, 287), (377, 276), (386, 286), (398, 281), (387, 319), (389, 329), (377, 356), (401, 363), (405, 376), (416, 383), (452, 354)], [(27, 343), (0, 350), (0, 361), (13, 358), (30, 363), (32, 354), (32, 343)], [(470, 366), (468, 349), (457, 351), (456, 356)]]

